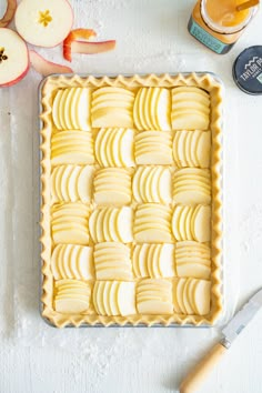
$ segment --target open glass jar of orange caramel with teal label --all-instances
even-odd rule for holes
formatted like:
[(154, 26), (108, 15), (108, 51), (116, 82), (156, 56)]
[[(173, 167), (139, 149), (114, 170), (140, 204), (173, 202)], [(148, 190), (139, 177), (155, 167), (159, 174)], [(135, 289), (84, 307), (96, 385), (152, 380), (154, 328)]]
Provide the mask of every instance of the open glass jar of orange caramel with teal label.
[(189, 21), (189, 32), (215, 53), (228, 53), (255, 16), (259, 6), (243, 11), (243, 0), (199, 0)]

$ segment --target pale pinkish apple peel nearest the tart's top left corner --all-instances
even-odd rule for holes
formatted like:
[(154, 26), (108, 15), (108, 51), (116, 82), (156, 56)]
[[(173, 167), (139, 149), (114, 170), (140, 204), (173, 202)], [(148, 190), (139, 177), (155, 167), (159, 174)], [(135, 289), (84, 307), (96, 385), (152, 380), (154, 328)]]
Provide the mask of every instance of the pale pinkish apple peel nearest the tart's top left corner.
[(61, 66), (46, 60), (34, 50), (29, 51), (30, 63), (32, 68), (41, 75), (47, 77), (51, 73), (72, 73), (73, 70), (67, 66)]

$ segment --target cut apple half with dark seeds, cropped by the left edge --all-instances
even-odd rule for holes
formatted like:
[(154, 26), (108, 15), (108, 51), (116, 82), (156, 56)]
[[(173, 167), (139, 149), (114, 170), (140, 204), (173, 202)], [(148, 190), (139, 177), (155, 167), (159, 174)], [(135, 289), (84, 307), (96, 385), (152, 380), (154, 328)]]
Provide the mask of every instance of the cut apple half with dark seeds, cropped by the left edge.
[(28, 70), (26, 42), (14, 31), (0, 28), (0, 88), (18, 83)]

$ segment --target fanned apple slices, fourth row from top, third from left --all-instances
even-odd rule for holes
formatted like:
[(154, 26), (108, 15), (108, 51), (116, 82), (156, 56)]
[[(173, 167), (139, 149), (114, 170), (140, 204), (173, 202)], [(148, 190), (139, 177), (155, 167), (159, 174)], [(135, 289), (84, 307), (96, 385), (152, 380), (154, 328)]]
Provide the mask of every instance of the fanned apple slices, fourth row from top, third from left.
[(138, 206), (134, 215), (134, 240), (139, 243), (172, 243), (171, 209), (145, 203)]

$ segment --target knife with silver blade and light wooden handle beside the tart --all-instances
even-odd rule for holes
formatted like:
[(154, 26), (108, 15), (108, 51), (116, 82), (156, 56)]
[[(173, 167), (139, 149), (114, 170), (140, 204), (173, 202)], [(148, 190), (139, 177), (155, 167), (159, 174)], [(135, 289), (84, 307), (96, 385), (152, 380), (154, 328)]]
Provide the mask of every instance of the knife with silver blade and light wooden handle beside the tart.
[(223, 339), (202, 359), (202, 361), (189, 373), (180, 385), (180, 393), (193, 393), (198, 391), (204, 379), (212, 371), (220, 359), (231, 347), (233, 341), (244, 330), (256, 312), (262, 308), (262, 289), (256, 292), (244, 306), (232, 318), (222, 330)]

